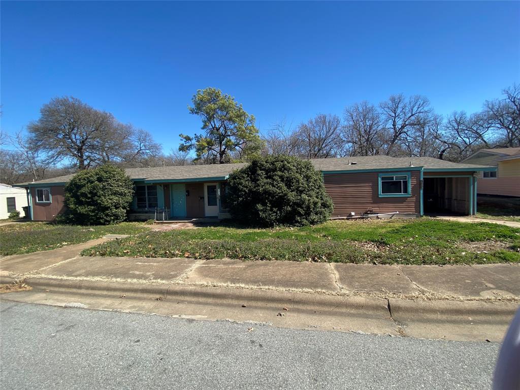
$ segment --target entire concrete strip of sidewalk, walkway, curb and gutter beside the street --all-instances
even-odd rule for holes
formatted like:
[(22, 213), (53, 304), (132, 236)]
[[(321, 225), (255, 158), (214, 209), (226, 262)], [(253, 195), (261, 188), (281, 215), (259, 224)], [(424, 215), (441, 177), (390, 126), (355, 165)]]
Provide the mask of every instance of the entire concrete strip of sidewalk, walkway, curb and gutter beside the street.
[[(19, 302), (449, 340), (500, 341), (520, 265), (385, 266), (82, 257), (101, 240), (0, 259)], [(290, 312), (289, 312), (290, 310)]]

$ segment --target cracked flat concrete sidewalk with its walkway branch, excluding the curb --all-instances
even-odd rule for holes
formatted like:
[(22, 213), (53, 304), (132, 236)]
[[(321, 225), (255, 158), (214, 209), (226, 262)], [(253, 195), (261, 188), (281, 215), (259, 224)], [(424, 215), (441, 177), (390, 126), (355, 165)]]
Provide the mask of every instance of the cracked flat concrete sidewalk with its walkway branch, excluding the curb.
[(3, 283), (31, 278), (184, 284), (424, 300), (520, 302), (520, 265), (371, 265), (83, 257), (106, 239), (0, 259)]

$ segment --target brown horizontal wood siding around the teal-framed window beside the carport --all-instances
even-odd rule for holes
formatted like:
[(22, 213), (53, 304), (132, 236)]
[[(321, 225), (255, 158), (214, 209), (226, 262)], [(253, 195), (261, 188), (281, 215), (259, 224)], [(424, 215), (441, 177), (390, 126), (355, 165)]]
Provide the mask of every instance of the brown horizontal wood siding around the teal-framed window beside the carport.
[(323, 175), (323, 180), (327, 193), (334, 202), (332, 217), (348, 216), (351, 212), (359, 215), (368, 210), (376, 213), (398, 211), (403, 214), (420, 214), (419, 171), (411, 172), (410, 197), (380, 198), (378, 172), (326, 174)]

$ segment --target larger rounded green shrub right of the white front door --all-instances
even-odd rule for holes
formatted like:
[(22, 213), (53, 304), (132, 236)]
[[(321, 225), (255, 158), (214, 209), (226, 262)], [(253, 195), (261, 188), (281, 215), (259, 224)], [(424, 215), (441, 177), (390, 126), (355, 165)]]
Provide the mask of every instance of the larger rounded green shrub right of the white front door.
[(253, 160), (233, 172), (225, 200), (231, 215), (248, 225), (313, 225), (332, 213), (321, 174), (310, 161), (287, 156)]

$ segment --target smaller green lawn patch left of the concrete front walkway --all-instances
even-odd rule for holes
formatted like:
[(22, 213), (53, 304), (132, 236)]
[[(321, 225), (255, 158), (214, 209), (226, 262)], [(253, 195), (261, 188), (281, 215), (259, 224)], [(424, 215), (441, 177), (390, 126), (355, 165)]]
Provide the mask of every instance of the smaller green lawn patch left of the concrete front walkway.
[(143, 224), (122, 223), (109, 226), (70, 226), (26, 222), (0, 226), (0, 254), (32, 253), (60, 248), (103, 237), (107, 234), (135, 235), (148, 231)]

